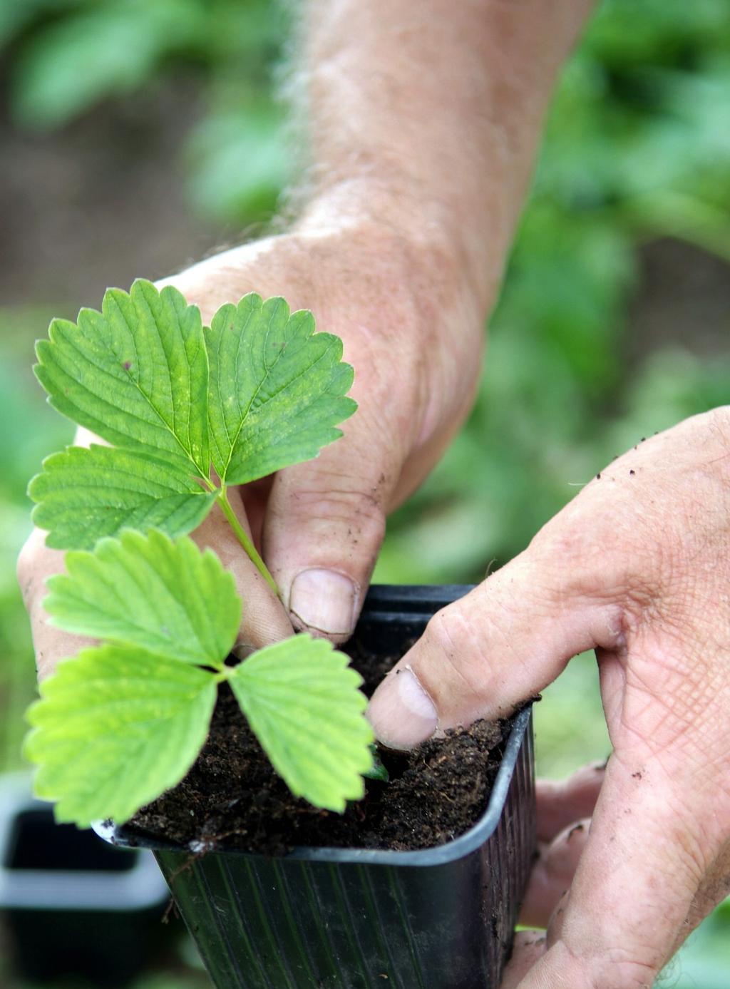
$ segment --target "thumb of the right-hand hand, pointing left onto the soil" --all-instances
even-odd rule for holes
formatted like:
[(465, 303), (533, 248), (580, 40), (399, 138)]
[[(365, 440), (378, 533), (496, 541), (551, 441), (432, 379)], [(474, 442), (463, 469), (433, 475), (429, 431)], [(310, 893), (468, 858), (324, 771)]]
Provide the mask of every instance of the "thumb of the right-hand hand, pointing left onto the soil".
[(436, 731), (507, 717), (571, 657), (614, 648), (619, 609), (574, 573), (529, 548), (437, 612), (373, 694), (368, 717), (380, 741), (410, 749)]

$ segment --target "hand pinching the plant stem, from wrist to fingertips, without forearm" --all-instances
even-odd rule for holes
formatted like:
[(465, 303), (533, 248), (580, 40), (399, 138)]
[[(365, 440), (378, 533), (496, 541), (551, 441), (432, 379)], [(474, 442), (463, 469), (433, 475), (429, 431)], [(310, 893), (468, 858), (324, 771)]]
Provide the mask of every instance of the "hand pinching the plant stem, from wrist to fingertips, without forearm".
[[(344, 341), (357, 413), (319, 458), (229, 493), (281, 592), (277, 600), (216, 508), (195, 534), (232, 571), (244, 599), (244, 652), (292, 624), (346, 639), (380, 548), (385, 516), (431, 468), (466, 414), (480, 369), (484, 304), (446, 242), (416, 241), (350, 216), (229, 250), (166, 279), (210, 320), (246, 292), (312, 309)], [(83, 433), (83, 431), (82, 431)], [(79, 442), (88, 442), (88, 434)], [(44, 581), (62, 554), (34, 533), (19, 563), (41, 675), (82, 640), (46, 624)], [(283, 602), (283, 603), (282, 603)], [(291, 619), (291, 621), (290, 621)]]

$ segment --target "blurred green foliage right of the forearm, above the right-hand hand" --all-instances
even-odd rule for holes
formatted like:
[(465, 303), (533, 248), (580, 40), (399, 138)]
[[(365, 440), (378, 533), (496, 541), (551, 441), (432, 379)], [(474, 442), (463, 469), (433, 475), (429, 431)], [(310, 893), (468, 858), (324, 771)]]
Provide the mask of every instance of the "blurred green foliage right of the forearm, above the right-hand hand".
[(722, 0), (604, 0), (554, 101), (477, 405), (376, 578), (478, 580), (642, 435), (730, 403), (730, 333), (711, 358), (687, 340), (624, 359), (642, 245), (730, 261), (728, 105)]

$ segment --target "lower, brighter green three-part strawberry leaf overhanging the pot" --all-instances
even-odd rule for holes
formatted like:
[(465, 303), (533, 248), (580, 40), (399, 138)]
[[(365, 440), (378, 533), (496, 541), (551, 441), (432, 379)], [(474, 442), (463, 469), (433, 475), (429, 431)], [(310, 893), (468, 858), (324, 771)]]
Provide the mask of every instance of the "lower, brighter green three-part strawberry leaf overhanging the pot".
[(363, 795), (373, 736), (360, 675), (307, 635), (227, 666), (241, 606), (211, 550), (130, 530), (68, 553), (66, 570), (48, 581), (50, 620), (104, 644), (62, 660), (29, 711), (26, 756), (58, 821), (122, 823), (178, 783), (223, 682), (293, 793), (335, 811)]

